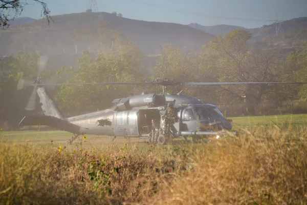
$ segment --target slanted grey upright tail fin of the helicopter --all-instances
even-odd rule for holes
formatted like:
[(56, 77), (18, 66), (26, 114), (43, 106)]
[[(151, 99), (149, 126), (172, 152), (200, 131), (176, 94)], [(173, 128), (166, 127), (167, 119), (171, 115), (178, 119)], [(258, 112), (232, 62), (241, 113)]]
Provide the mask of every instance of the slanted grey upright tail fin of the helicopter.
[(58, 106), (51, 95), (46, 91), (45, 87), (38, 87), (36, 92), (40, 98), (40, 106), (46, 116), (52, 116), (59, 119), (65, 119), (63, 113), (60, 111)]

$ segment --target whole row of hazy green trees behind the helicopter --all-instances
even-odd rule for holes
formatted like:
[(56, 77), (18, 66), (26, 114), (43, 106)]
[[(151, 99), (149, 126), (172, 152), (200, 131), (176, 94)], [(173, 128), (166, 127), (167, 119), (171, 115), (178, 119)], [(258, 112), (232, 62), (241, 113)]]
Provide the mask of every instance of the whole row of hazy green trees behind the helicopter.
[[(145, 81), (155, 78), (170, 78), (194, 82), (249, 82), (249, 81), (307, 81), (307, 43), (287, 57), (270, 49), (268, 45), (250, 47), (251, 34), (234, 29), (225, 36), (218, 35), (202, 49), (188, 53), (180, 48), (165, 44), (160, 58), (151, 73), (146, 69), (145, 56), (137, 45), (120, 35), (114, 35), (112, 47), (103, 47), (91, 57), (90, 51), (83, 51), (77, 67), (62, 67), (55, 75), (58, 83), (95, 83), (103, 81)], [(37, 60), (40, 53), (20, 52), (15, 56), (0, 59), (1, 104), (0, 115), (7, 119), (12, 112), (23, 109), (27, 103), (27, 92), (16, 91), (20, 77), (35, 79)], [(51, 77), (50, 70), (43, 75)], [(26, 89), (27, 90), (27, 89)], [(28, 88), (28, 90), (30, 90)], [(152, 86), (61, 86), (53, 91), (59, 107), (65, 113), (80, 114), (105, 109), (114, 98), (155, 92)], [(229, 85), (229, 86), (177, 86), (174, 91), (183, 90), (212, 104), (246, 104), (246, 112), (255, 113), (255, 106), (272, 102), (279, 106), (283, 101), (307, 97), (307, 85)], [(22, 94), (24, 93), (24, 94)], [(12, 100), (17, 100), (18, 104)], [(24, 114), (24, 113), (23, 113)], [(1, 119), (0, 119), (1, 120)]]

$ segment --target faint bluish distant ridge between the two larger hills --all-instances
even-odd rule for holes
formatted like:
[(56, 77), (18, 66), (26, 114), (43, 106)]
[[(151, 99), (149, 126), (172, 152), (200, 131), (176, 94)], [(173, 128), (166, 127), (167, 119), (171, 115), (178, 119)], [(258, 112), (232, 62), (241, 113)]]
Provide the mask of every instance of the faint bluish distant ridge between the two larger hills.
[(230, 31), (232, 31), (233, 29), (236, 29), (236, 28), (241, 28), (241, 29), (244, 29), (244, 30), (249, 31), (251, 33), (257, 32), (258, 29), (259, 29), (259, 28), (247, 29), (247, 28), (240, 27), (240, 26), (232, 26), (232, 25), (224, 25), (224, 24), (214, 25), (214, 26), (202, 26), (202, 25), (197, 24), (197, 23), (192, 23), (192, 24), (189, 24), (189, 26), (192, 27), (192, 28), (204, 31), (206, 33), (210, 33), (212, 35), (226, 34), (226, 33), (230, 32)]

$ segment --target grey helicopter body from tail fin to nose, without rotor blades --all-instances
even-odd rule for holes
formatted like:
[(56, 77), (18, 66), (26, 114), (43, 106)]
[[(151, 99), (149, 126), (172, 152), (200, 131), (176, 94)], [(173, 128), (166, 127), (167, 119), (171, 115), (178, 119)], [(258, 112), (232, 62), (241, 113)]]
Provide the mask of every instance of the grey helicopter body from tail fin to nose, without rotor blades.
[(19, 125), (48, 125), (76, 135), (92, 134), (125, 137), (148, 137), (152, 122), (163, 129), (163, 115), (168, 103), (174, 104), (177, 117), (173, 135), (217, 135), (231, 131), (232, 125), (214, 105), (179, 94), (145, 94), (113, 100), (111, 109), (64, 118), (44, 87), (38, 87), (40, 106), (45, 116), (25, 117)]

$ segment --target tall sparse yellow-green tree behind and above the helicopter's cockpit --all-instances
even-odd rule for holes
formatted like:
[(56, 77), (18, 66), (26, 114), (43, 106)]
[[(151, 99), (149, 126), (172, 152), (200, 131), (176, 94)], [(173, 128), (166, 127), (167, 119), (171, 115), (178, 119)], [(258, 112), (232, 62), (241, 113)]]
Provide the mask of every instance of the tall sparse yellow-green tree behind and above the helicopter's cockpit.
[[(277, 81), (282, 76), (279, 53), (263, 47), (249, 49), (251, 34), (234, 29), (225, 36), (219, 35), (203, 48), (203, 58), (211, 61), (204, 72), (216, 73), (213, 78), (229, 82)], [(208, 60), (207, 60), (208, 62)], [(209, 70), (208, 70), (209, 69)], [(269, 84), (229, 85), (217, 90), (224, 103), (245, 102), (249, 113), (255, 114), (255, 106), (272, 90)]]

